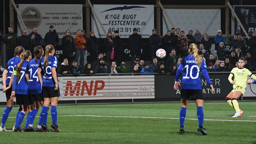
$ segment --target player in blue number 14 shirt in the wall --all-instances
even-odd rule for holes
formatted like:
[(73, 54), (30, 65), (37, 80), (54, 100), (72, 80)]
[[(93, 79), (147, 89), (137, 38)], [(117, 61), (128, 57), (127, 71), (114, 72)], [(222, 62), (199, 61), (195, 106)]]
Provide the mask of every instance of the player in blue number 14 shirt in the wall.
[(29, 98), (32, 101), (31, 107), (33, 108), (31, 112), (28, 113), (30, 115), (30, 118), (27, 117), (27, 123), (25, 126), (26, 130), (31, 131), (37, 131), (37, 132), (43, 132), (41, 129), (42, 126), (42, 116), (40, 114), (39, 122), (36, 130), (33, 128), (33, 123), (36, 117), (36, 114), (41, 106), (43, 106), (43, 95), (42, 95), (42, 89), (41, 89), (41, 83), (37, 76), (37, 70), (40, 63), (41, 58), (44, 55), (43, 48), (41, 46), (36, 46), (34, 48), (34, 59), (32, 59), (27, 66), (26, 69), (26, 76), (29, 78), (28, 82), (28, 93)]

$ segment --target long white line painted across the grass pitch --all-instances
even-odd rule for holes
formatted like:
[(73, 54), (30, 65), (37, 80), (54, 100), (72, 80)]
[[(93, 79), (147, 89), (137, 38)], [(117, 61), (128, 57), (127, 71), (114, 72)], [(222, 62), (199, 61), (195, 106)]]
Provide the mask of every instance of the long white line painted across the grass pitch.
[[(71, 116), (81, 116), (81, 117), (116, 117), (116, 118), (149, 118), (149, 119), (179, 119), (179, 118), (164, 118), (164, 117), (136, 117), (136, 116), (97, 116), (97, 115), (60, 115), (58, 117), (71, 117)], [(39, 117), (39, 116), (36, 116)], [(48, 116), (51, 117), (51, 116)], [(8, 117), (8, 118), (16, 118), (16, 117)], [(186, 120), (198, 120), (192, 118), (186, 118)], [(235, 121), (235, 122), (256, 122), (250, 120), (218, 120), (218, 119), (204, 119), (206, 121)]]

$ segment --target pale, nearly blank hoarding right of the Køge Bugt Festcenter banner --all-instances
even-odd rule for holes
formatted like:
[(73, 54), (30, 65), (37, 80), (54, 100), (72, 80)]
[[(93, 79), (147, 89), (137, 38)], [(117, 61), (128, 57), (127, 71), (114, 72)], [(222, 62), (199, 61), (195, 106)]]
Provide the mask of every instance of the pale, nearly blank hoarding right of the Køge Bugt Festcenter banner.
[[(217, 31), (221, 29), (220, 9), (165, 9), (175, 28), (188, 34), (189, 30), (199, 28), (201, 34), (208, 33), (215, 36)], [(163, 35), (167, 30), (171, 30), (172, 25), (163, 15)]]

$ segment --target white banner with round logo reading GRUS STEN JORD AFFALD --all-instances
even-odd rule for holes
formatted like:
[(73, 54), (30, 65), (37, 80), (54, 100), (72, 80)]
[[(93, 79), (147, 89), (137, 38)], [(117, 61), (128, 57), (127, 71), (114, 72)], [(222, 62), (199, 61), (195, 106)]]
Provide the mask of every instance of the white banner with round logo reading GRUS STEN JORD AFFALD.
[(62, 38), (66, 30), (75, 37), (78, 29), (83, 29), (82, 5), (48, 5), (48, 4), (19, 4), (19, 13), (28, 33), (37, 28), (37, 32), (44, 38), (50, 26)]

